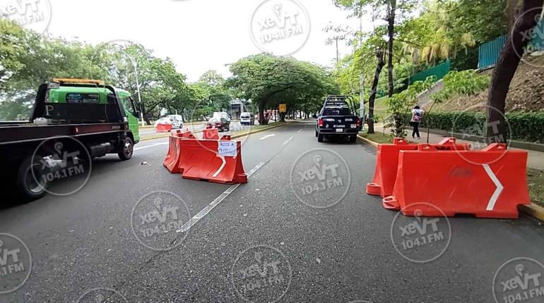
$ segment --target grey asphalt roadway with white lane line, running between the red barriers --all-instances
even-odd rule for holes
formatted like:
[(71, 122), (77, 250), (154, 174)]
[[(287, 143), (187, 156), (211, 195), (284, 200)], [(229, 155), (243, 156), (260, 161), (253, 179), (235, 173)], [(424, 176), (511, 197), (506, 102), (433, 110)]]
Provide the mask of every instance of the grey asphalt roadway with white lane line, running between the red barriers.
[[(32, 255), (30, 278), (0, 302), (495, 302), (505, 262), (544, 262), (544, 226), (523, 215), (442, 218), (437, 229), (427, 225), (442, 234), (403, 249), (398, 230), (427, 221), (397, 216), (365, 194), (373, 147), (319, 144), (311, 121), (242, 141), (252, 175), (240, 187), (171, 175), (160, 139), (138, 144), (131, 161), (97, 159), (74, 194), (0, 209), (0, 233), (19, 237)], [(71, 182), (81, 180), (52, 190)], [(163, 195), (160, 203), (153, 194)], [(150, 217), (133, 214), (142, 201), (148, 209), (179, 206), (183, 222), (215, 208), (189, 230), (143, 238), (138, 226)], [(505, 279), (544, 273), (520, 262), (497, 273), (499, 292)], [(0, 276), (0, 292), (8, 279)]]

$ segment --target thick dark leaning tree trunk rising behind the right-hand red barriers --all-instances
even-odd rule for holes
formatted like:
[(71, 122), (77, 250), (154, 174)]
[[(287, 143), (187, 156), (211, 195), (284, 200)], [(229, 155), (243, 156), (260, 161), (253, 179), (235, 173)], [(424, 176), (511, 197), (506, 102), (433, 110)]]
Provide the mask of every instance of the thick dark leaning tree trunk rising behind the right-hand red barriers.
[(507, 142), (507, 122), (504, 107), (510, 82), (514, 78), (521, 56), (529, 42), (531, 29), (542, 11), (542, 0), (524, 0), (523, 8), (493, 70), (487, 94), (487, 143)]

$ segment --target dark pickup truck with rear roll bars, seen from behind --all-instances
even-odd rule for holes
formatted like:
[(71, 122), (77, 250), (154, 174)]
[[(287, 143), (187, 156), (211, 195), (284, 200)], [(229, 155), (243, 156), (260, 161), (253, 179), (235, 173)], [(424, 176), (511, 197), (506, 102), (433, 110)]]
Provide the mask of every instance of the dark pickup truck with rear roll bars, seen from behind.
[(355, 102), (351, 96), (329, 96), (317, 117), (315, 135), (318, 142), (327, 137), (348, 137), (357, 141), (361, 119), (355, 113)]

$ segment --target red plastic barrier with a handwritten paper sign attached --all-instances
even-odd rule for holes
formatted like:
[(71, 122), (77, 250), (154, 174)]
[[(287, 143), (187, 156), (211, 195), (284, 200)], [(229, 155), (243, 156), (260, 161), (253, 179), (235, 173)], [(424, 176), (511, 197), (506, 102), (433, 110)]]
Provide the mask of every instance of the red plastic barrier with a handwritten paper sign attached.
[[(247, 183), (242, 164), (242, 144), (239, 141), (182, 139), (178, 142), (179, 172), (184, 179), (224, 184)], [(218, 147), (221, 142), (235, 144), (236, 155), (220, 156)]]

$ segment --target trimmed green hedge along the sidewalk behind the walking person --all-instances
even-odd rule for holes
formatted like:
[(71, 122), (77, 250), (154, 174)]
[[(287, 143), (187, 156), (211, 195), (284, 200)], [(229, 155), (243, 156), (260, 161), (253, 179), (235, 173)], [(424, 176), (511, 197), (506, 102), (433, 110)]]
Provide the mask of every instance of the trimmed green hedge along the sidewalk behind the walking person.
[[(507, 113), (507, 138), (511, 140), (544, 143), (544, 113)], [(408, 125), (411, 114), (405, 116)], [(425, 113), (420, 128), (447, 130), (466, 135), (485, 137), (485, 113), (473, 111), (451, 111)], [(512, 130), (512, 136), (510, 136)]]

